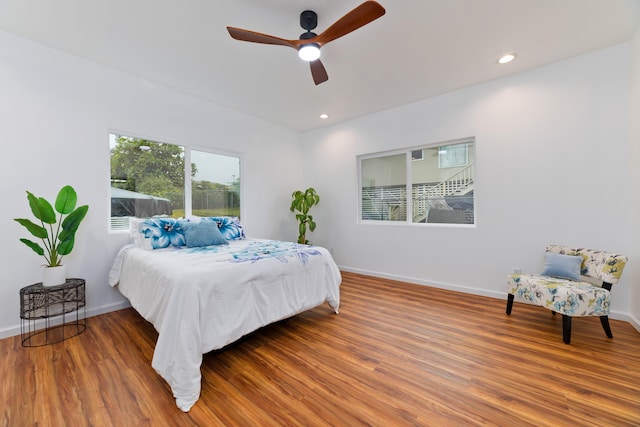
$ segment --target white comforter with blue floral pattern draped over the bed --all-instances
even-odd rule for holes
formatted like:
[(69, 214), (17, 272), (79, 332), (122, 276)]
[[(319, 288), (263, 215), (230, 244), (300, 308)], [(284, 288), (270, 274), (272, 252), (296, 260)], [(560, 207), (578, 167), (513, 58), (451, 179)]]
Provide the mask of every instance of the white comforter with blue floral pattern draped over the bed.
[(327, 301), (338, 312), (340, 271), (324, 248), (245, 239), (205, 248), (118, 253), (109, 284), (159, 333), (153, 368), (189, 411), (202, 355)]

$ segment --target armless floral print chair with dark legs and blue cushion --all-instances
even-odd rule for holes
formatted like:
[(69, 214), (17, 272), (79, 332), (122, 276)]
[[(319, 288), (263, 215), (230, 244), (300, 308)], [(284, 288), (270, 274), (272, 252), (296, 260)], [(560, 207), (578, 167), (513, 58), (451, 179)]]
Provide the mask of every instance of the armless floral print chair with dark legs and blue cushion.
[(562, 338), (566, 344), (571, 342), (572, 317), (599, 316), (605, 333), (613, 338), (609, 327), (610, 291), (620, 280), (628, 258), (559, 245), (547, 246), (545, 255), (542, 274), (508, 276), (507, 314), (511, 314), (514, 300), (562, 314)]

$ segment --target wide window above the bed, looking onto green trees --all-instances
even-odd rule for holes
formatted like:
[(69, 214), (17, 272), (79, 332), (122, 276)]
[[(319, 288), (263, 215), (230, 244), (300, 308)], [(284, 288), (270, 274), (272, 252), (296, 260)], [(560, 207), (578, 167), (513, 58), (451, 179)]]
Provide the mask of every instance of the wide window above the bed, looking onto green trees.
[(131, 217), (240, 217), (239, 157), (117, 134), (109, 146), (112, 230)]

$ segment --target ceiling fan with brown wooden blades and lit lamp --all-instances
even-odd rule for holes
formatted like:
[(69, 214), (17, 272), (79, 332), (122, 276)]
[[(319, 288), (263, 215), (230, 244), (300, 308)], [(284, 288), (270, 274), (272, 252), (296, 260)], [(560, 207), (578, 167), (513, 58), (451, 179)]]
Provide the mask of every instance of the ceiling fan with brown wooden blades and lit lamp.
[(327, 70), (325, 70), (324, 65), (322, 65), (319, 59), (320, 47), (367, 25), (384, 14), (385, 10), (379, 3), (375, 1), (365, 1), (318, 35), (311, 31), (318, 25), (318, 15), (312, 10), (305, 10), (300, 14), (300, 26), (307, 31), (302, 33), (297, 40), (282, 39), (280, 37), (235, 27), (227, 27), (227, 30), (229, 31), (229, 35), (236, 40), (294, 48), (298, 51), (300, 58), (309, 62), (313, 81), (316, 85), (319, 85), (329, 80)]

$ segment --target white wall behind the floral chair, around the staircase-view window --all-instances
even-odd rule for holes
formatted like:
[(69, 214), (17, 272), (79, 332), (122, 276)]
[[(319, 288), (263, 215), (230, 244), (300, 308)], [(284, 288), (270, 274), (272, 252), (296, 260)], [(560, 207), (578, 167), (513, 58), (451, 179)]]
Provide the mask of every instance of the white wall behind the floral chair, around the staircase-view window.
[[(312, 241), (335, 248), (346, 270), (499, 298), (512, 268), (541, 270), (548, 243), (629, 253), (628, 52), (623, 44), (304, 133), (305, 182), (322, 197)], [(357, 224), (357, 155), (469, 136), (476, 227)], [(628, 319), (630, 283), (614, 288), (614, 318)]]

